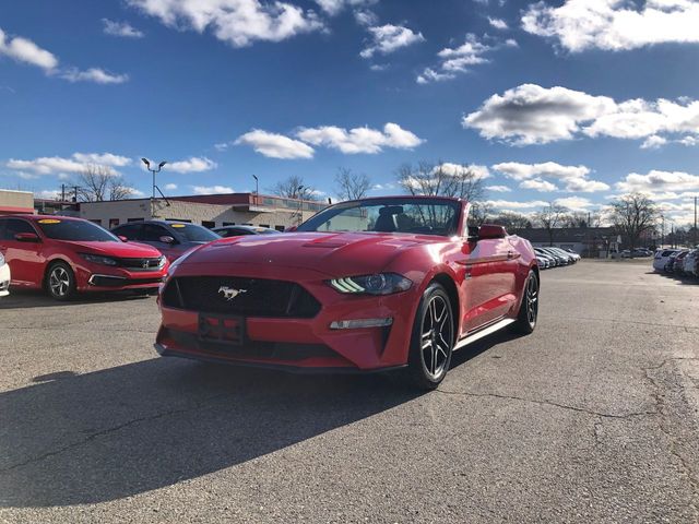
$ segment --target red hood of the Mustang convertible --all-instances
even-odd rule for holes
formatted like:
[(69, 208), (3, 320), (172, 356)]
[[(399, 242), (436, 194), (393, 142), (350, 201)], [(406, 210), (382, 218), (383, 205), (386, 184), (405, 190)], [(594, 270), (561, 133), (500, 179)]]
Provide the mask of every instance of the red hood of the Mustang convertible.
[(443, 237), (374, 233), (285, 233), (217, 240), (193, 251), (182, 265), (259, 264), (325, 273), (362, 274), (383, 270), (400, 252)]

